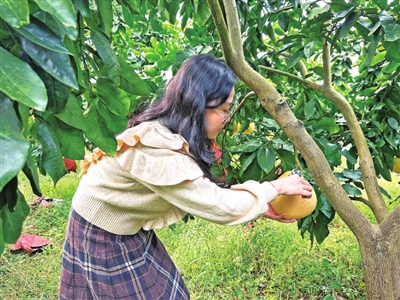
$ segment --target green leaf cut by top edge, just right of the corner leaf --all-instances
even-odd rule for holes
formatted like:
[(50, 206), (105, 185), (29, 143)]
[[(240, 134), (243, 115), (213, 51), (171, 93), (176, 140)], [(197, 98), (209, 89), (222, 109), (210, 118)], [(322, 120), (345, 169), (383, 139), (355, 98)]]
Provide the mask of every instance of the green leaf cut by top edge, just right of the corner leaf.
[(71, 0), (33, 0), (45, 12), (51, 14), (56, 20), (68, 28), (70, 38), (75, 40), (78, 36), (76, 12)]

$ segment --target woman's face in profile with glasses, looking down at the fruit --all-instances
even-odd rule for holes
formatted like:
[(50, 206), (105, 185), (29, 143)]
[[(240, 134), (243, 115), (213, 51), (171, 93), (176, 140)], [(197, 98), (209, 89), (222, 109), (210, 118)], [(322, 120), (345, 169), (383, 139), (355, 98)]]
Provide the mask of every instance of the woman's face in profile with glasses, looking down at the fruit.
[[(229, 115), (234, 95), (235, 88), (232, 88), (228, 99), (224, 103), (222, 103), (222, 105), (218, 106), (215, 109), (206, 109), (206, 133), (209, 139), (215, 139), (222, 131), (225, 124), (229, 122), (230, 117), (227, 118), (227, 115)], [(215, 103), (216, 100), (213, 100), (210, 102), (210, 105), (213, 105)]]

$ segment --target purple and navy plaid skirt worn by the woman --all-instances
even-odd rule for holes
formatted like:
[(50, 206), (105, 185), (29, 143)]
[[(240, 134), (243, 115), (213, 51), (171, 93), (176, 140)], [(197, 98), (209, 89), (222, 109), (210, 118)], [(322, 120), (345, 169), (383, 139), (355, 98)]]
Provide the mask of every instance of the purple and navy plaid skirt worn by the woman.
[(59, 299), (190, 299), (153, 230), (116, 235), (71, 211)]

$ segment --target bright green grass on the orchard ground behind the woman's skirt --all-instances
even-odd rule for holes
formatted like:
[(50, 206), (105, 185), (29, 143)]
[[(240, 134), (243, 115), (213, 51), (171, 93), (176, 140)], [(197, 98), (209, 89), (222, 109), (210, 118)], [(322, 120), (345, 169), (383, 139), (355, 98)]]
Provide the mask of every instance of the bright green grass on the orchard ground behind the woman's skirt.
[[(21, 181), (27, 201), (33, 201), (26, 180)], [(397, 181), (381, 184), (397, 197)], [(32, 210), (23, 232), (47, 238), (51, 245), (37, 254), (5, 251), (0, 257), (0, 299), (57, 299), (65, 228), (78, 182), (75, 173), (55, 188), (42, 178), (43, 193), (63, 202)], [(391, 207), (397, 205), (398, 201)], [(300, 237), (296, 224), (258, 220), (249, 231), (243, 227), (196, 218), (157, 231), (192, 299), (365, 298), (357, 242), (338, 217), (325, 242), (313, 248)]]

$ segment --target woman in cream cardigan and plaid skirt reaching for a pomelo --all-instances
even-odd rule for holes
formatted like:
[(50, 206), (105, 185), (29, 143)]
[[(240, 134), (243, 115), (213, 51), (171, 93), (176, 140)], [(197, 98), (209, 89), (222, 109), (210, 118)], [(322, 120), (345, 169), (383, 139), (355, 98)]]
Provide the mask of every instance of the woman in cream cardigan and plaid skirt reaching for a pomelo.
[(187, 213), (233, 225), (266, 217), (278, 194), (311, 196), (294, 175), (221, 188), (212, 141), (231, 116), (236, 78), (206, 54), (192, 57), (164, 95), (129, 119), (114, 157), (85, 158), (64, 246), (60, 299), (189, 299), (153, 229)]

